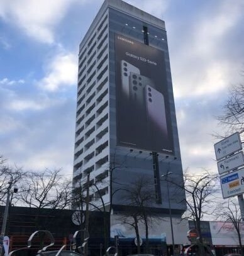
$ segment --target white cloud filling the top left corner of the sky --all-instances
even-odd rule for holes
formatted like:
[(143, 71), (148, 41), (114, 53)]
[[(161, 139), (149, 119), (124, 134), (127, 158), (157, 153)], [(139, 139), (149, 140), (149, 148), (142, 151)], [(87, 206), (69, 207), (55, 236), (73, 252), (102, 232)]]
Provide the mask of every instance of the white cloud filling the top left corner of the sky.
[[(85, 3), (86, 0), (80, 0)], [(78, 0), (1, 0), (0, 17), (21, 28), (26, 35), (44, 43), (53, 43), (53, 30), (69, 6)]]

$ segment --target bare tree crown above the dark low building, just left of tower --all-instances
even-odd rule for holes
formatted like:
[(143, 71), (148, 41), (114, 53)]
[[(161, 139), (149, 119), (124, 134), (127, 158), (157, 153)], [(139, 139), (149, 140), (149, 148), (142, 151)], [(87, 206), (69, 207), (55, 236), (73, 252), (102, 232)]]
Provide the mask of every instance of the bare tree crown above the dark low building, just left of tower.
[(21, 188), (21, 201), (34, 208), (65, 209), (70, 205), (71, 181), (60, 169), (30, 172)]

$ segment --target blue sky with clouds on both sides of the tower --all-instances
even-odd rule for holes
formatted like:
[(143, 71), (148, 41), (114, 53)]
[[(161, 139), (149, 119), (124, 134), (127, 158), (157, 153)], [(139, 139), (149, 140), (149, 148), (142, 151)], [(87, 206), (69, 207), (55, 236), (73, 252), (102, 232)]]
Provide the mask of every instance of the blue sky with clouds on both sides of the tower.
[[(244, 69), (243, 0), (126, 2), (165, 20), (183, 168), (216, 171), (214, 116)], [(79, 42), (102, 3), (0, 1), (0, 154), (9, 162), (72, 173)]]

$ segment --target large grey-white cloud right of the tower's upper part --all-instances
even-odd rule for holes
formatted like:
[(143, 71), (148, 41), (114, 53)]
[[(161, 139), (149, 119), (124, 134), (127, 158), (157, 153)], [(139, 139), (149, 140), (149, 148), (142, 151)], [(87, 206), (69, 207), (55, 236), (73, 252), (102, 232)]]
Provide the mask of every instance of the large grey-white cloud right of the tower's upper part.
[(175, 24), (170, 38), (175, 97), (189, 96), (189, 92), (191, 96), (219, 93), (235, 81), (243, 58), (235, 57), (228, 42), (233, 28), (242, 26), (243, 8), (243, 1), (222, 1), (208, 13), (208, 8), (202, 9), (194, 23), (192, 19), (185, 23), (184, 33)]

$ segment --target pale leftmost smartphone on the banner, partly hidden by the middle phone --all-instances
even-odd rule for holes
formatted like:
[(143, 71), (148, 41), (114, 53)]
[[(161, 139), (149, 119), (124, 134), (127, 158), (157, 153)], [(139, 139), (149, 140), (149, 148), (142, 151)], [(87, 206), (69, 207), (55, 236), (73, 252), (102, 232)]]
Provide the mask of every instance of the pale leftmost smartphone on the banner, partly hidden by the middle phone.
[(134, 65), (121, 60), (121, 91), (126, 99), (130, 98), (130, 73), (140, 74), (140, 69)]

